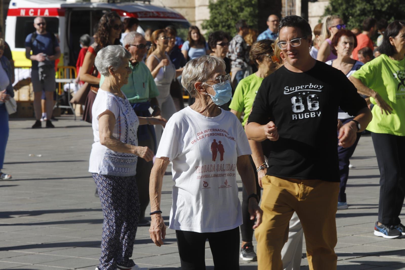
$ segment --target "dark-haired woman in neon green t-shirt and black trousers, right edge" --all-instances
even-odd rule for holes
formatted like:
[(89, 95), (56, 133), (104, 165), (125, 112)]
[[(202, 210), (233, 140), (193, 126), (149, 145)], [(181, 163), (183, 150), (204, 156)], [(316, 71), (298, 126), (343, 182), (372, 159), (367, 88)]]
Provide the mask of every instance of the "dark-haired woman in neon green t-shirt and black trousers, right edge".
[(405, 198), (405, 22), (393, 21), (384, 32), (381, 56), (364, 64), (350, 81), (370, 96), (371, 131), (380, 171), (378, 221), (374, 234), (384, 238), (405, 235), (399, 219)]

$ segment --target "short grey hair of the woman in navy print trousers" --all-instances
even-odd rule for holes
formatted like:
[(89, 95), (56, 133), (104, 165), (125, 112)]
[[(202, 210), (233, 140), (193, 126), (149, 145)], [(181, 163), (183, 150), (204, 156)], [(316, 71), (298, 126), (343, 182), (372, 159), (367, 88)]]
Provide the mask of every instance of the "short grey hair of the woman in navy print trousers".
[(121, 45), (109, 45), (98, 51), (96, 59), (94, 60), (94, 65), (101, 75), (108, 77), (110, 75), (108, 70), (110, 67), (115, 71), (119, 66), (128, 62), (130, 58), (130, 52), (124, 49)]

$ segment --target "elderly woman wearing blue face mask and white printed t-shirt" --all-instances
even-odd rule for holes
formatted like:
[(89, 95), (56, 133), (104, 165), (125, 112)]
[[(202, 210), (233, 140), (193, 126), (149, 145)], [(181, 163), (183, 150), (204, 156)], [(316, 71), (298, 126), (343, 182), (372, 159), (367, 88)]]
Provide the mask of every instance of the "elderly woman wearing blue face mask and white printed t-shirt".
[[(162, 178), (171, 161), (173, 206), (170, 229), (176, 230), (182, 269), (205, 269), (208, 239), (215, 269), (239, 269), (242, 224), (236, 169), (249, 194), (251, 219), (261, 223), (247, 137), (231, 112), (220, 105), (232, 95), (225, 62), (201, 56), (185, 65), (181, 83), (196, 102), (173, 114), (163, 131), (150, 177), (150, 236), (163, 244), (166, 225), (160, 211)], [(181, 138), (181, 139), (179, 139)]]

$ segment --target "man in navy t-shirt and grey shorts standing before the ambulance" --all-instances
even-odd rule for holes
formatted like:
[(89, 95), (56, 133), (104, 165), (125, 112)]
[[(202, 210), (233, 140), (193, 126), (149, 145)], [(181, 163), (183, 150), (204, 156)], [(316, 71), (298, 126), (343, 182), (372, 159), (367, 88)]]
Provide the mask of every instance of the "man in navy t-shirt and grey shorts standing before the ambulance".
[[(55, 60), (60, 57), (60, 47), (55, 35), (47, 32), (46, 21), (42, 17), (34, 19), (35, 32), (25, 40), (26, 57), (32, 61), (31, 81), (34, 88), (34, 111), (36, 122), (33, 129), (41, 128), (41, 95), (45, 91), (45, 107), (48, 119), (47, 128), (53, 128), (51, 116), (53, 111), (53, 92), (55, 83)], [(32, 51), (32, 54), (31, 54)]]

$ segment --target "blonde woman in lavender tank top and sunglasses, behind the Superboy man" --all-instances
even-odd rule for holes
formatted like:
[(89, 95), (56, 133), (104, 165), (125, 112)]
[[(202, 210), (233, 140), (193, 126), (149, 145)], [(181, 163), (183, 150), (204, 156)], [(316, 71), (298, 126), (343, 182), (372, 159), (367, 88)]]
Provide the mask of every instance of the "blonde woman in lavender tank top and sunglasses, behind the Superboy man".
[(326, 62), (336, 59), (336, 56), (332, 53), (332, 39), (337, 31), (345, 28), (346, 26), (343, 24), (343, 20), (339, 16), (331, 15), (325, 17), (324, 21), (322, 22), (322, 37), (325, 40), (319, 47), (316, 60)]

